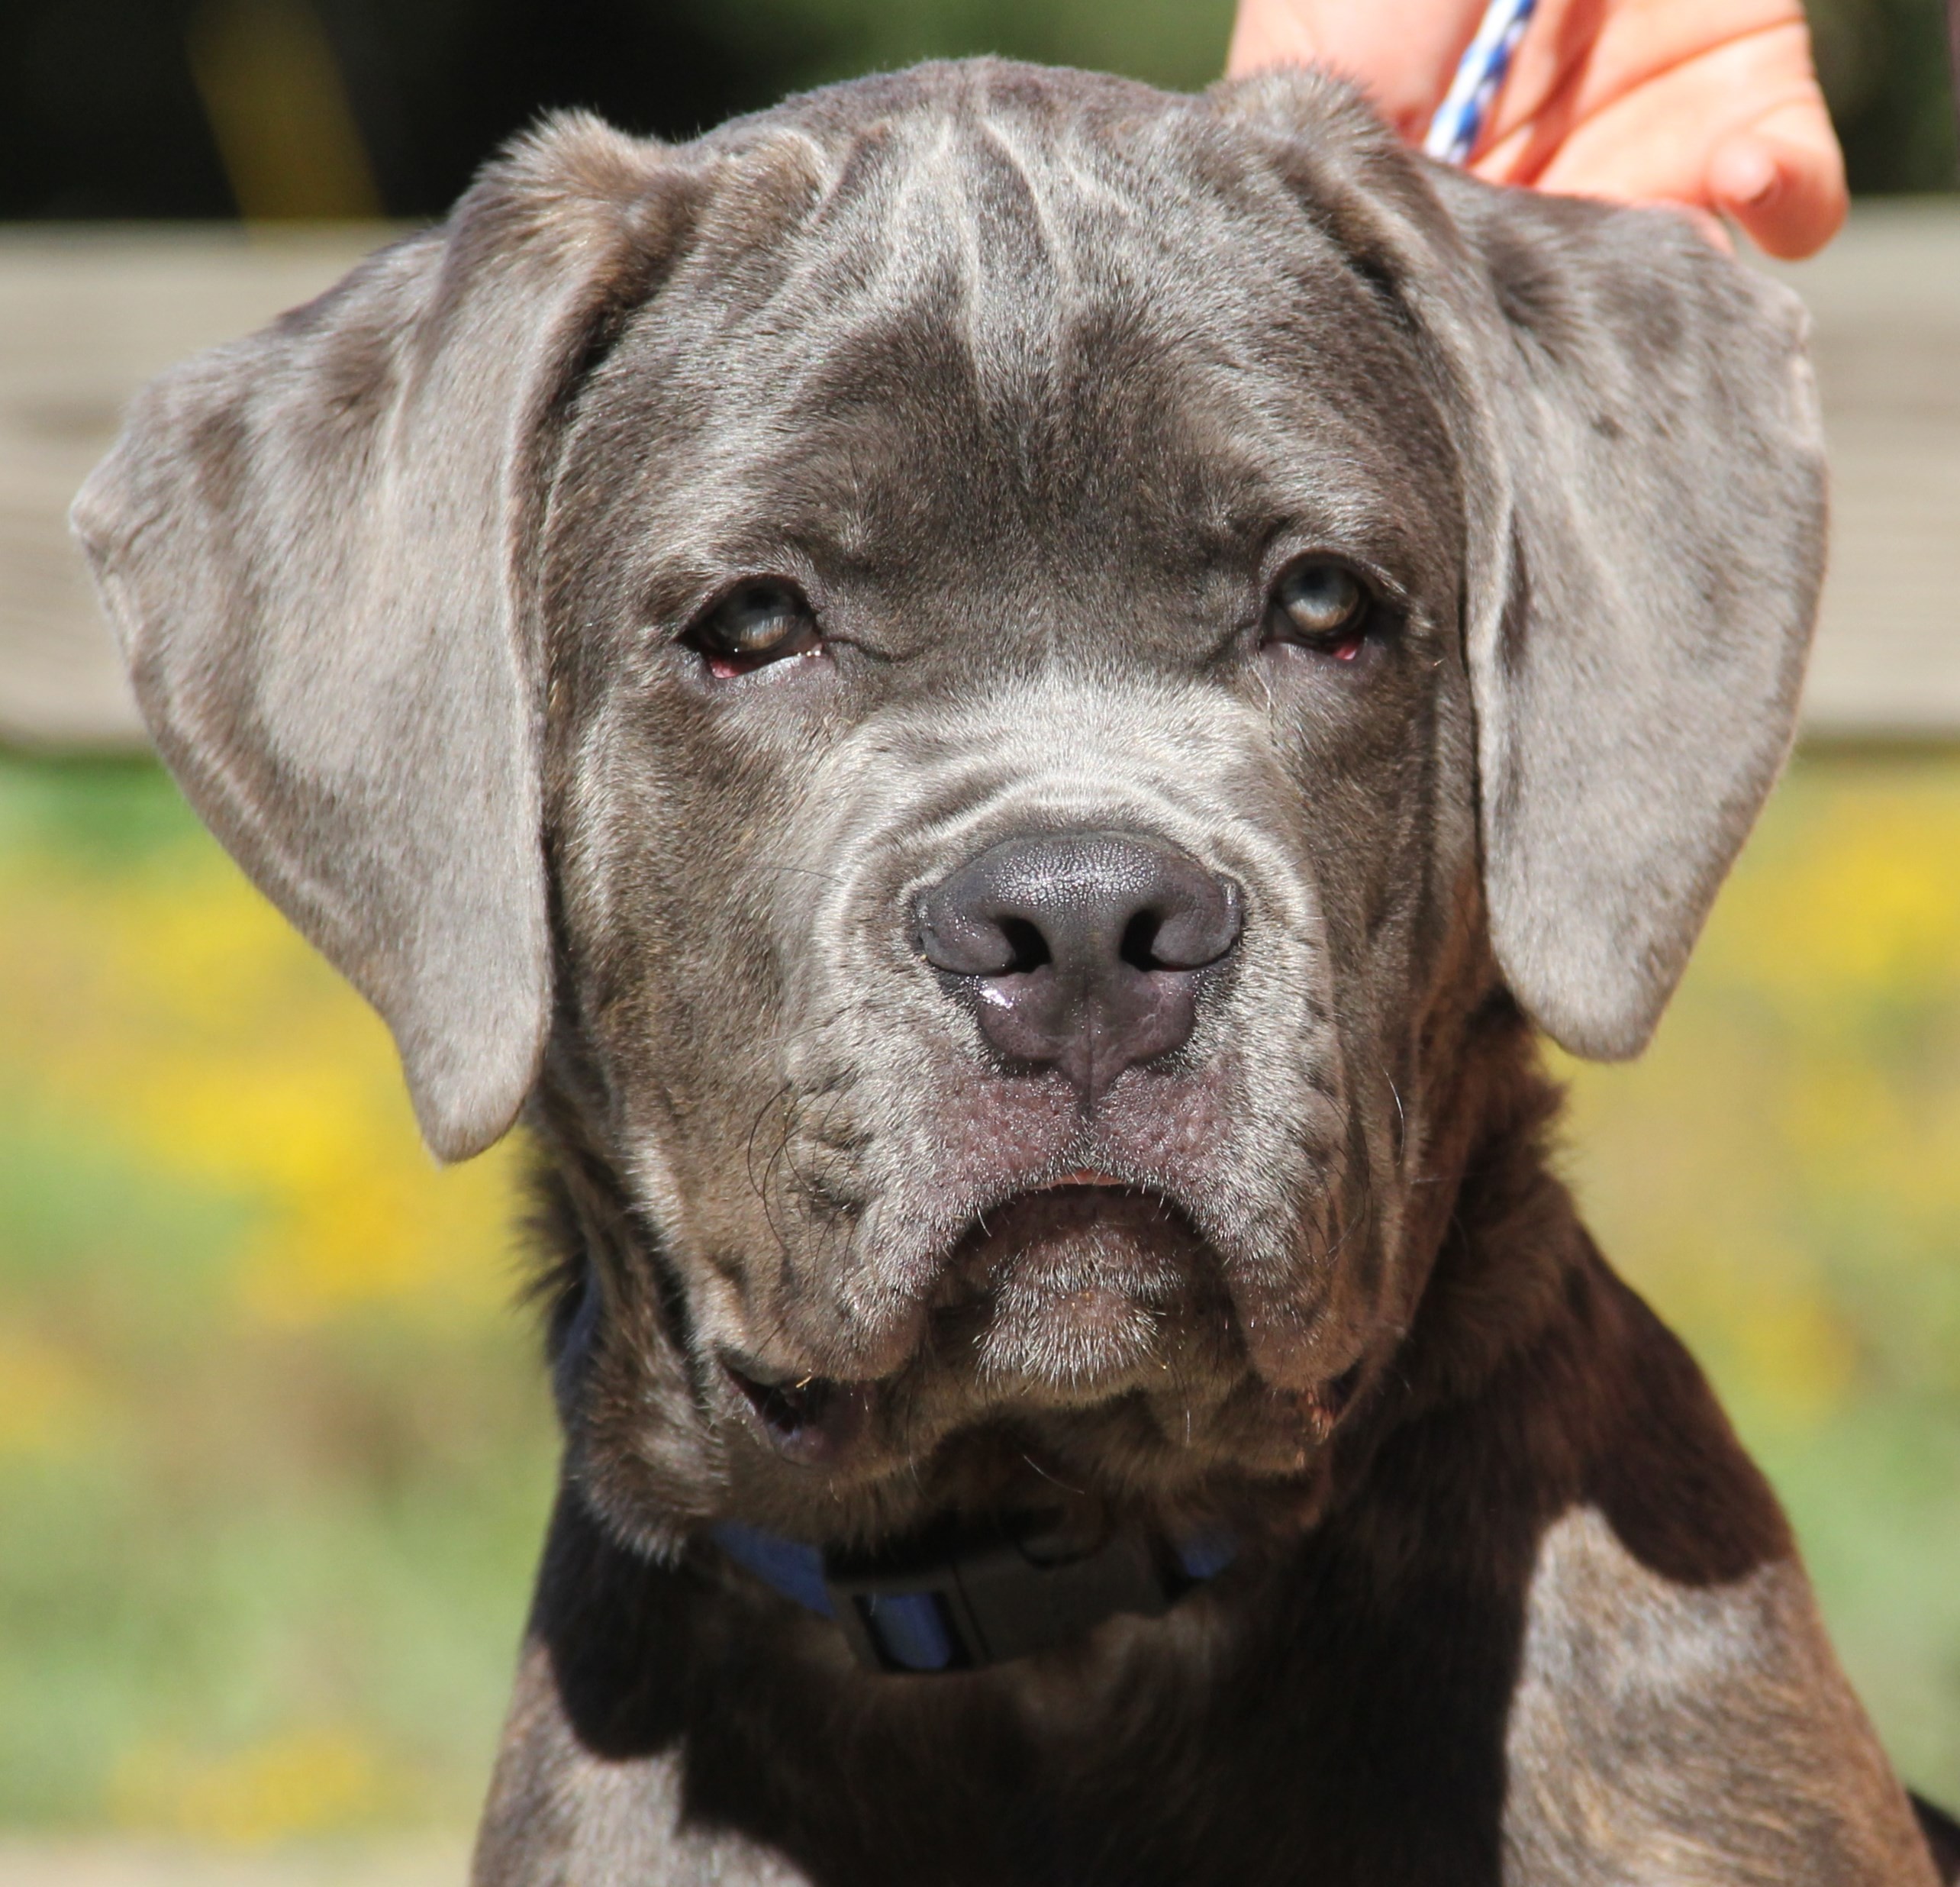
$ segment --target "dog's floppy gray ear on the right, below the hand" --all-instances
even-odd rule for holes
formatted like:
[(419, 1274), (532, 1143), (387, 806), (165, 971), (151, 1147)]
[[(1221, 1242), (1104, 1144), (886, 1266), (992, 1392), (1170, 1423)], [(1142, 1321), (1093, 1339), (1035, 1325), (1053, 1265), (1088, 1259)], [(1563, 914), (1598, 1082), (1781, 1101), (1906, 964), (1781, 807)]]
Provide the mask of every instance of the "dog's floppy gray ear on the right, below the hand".
[(1462, 239), (1421, 314), (1454, 327), (1492, 943), (1541, 1027), (1621, 1058), (1795, 735), (1825, 547), (1807, 317), (1672, 212), (1431, 182)]

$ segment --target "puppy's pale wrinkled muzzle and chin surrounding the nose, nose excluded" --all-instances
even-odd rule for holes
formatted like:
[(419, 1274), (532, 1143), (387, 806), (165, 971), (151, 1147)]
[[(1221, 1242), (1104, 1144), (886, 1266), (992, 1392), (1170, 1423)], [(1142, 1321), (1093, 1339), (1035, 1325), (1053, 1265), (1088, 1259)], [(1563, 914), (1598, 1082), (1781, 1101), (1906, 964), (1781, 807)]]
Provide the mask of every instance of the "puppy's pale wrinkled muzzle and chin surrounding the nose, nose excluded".
[[(1045, 739), (1058, 721), (1074, 731), (1060, 758)], [(929, 1307), (960, 1242), (998, 1238), (1000, 1215), (1017, 1211), (1029, 1187), (1078, 1170), (1152, 1189), (1188, 1213), (1217, 1254), (1194, 1252), (1190, 1264), (1215, 1268), (1229, 1317), (1262, 1332), (1286, 1289), (1307, 1291), (1288, 1321), (1311, 1317), (1317, 1289), (1299, 1276), (1303, 1252), (1339, 1250), (1347, 1233), (1321, 1223), (1323, 1201), (1292, 1195), (1339, 1182), (1345, 1160), (1313, 1123), (1341, 1117), (1343, 1089), (1325, 1052), (1288, 1068), (1235, 1050), (1249, 1015), (1296, 1042), (1317, 1040), (1329, 1015), (1298, 850), (1237, 809), (1274, 796), (1241, 784), (1249, 762), (1233, 729), (1243, 721), (1231, 703), (1194, 717), (1184, 694), (1162, 684), (1125, 694), (1023, 680), (990, 705), (935, 711), (906, 735), (886, 725), (847, 741), (809, 784), (804, 856), (833, 862), (772, 860), (794, 864), (804, 886), (778, 894), (774, 923), (792, 1017), (798, 1007), (821, 1013), (778, 1031), (792, 1072), (762, 1109), (782, 1107), (784, 1123), (760, 1178), (784, 1276), (804, 1295), (786, 1327), (809, 1329), (827, 1305), (827, 1358), (909, 1379), (896, 1332), (937, 1331)], [(1256, 774), (1262, 762), (1250, 764)], [(1229, 872), (1245, 911), (1243, 962), (1233, 962), (1231, 988), (1200, 1001), (1188, 1044), (1164, 1070), (1117, 1076), (1088, 1115), (1054, 1080), (994, 1072), (970, 1021), (933, 988), (909, 919), (921, 886), (990, 841), (1074, 829), (1174, 845)], [(992, 1127), (976, 1137), (980, 1121)], [(1200, 1121), (1209, 1125), (1194, 1140)], [(1247, 1211), (1249, 1184), (1288, 1197), (1292, 1233)], [(788, 1189), (802, 1197), (802, 1236), (782, 1203)], [(853, 1209), (827, 1213), (835, 1197)], [(1172, 1274), (1135, 1254), (1109, 1270), (1078, 1252), (1035, 1278), (1015, 1274), (1007, 1252), (988, 1276), (994, 1321), (972, 1334), (966, 1370), (990, 1393), (1011, 1391), (1017, 1374), (1023, 1393), (1107, 1387), (1158, 1352), (1176, 1297)], [(1082, 1321), (1064, 1329), (1070, 1307)]]

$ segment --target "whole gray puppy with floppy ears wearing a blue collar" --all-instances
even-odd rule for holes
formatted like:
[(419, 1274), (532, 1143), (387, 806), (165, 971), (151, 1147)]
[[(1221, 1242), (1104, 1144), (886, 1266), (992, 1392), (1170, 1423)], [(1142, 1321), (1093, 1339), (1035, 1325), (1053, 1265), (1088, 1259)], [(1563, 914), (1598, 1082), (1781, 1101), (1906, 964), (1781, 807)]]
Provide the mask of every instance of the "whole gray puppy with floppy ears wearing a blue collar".
[(543, 1152), (482, 1887), (1960, 1862), (1544, 1158), (1821, 521), (1788, 294), (1305, 74), (557, 120), (141, 398), (157, 745)]

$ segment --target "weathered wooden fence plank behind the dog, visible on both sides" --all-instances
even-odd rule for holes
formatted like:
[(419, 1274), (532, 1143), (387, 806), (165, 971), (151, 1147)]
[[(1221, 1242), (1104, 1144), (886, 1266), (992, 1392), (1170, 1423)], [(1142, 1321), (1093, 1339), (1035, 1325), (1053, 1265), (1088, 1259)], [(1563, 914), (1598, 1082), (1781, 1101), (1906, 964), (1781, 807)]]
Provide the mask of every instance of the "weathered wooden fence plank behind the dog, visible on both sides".
[[(153, 372), (325, 288), (392, 231), (0, 231), (0, 739), (141, 739), (63, 515)], [(1960, 200), (1860, 204), (1778, 270), (1817, 319), (1835, 464), (1805, 731), (1960, 739)]]

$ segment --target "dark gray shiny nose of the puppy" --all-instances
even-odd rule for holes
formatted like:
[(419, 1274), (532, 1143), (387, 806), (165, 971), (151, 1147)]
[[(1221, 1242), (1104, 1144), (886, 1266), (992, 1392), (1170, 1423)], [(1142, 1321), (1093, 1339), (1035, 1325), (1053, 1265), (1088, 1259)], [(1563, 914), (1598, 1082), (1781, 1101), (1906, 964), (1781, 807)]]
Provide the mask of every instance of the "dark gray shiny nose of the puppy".
[(1198, 972), (1239, 944), (1229, 878), (1137, 833), (1004, 839), (919, 897), (925, 960), (968, 980), (988, 1040), (1088, 1105), (1184, 1042)]

